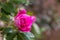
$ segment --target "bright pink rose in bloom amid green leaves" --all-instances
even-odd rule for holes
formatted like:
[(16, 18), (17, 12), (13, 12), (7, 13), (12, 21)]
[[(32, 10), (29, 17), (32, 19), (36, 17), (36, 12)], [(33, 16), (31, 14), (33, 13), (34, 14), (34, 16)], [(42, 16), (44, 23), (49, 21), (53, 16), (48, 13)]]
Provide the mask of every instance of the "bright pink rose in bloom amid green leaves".
[(14, 18), (14, 23), (17, 28), (22, 32), (29, 32), (33, 22), (36, 21), (35, 16), (30, 16), (26, 14), (26, 10), (19, 10)]

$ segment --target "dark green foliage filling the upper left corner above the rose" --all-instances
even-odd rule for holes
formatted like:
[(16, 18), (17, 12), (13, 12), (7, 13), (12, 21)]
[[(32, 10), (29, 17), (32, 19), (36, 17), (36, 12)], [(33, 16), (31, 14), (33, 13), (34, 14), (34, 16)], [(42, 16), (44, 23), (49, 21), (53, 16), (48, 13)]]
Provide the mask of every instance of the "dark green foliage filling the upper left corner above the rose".
[(17, 7), (20, 4), (26, 4), (26, 0), (6, 0), (5, 2), (0, 3), (1, 13), (10, 15), (11, 13), (15, 13)]

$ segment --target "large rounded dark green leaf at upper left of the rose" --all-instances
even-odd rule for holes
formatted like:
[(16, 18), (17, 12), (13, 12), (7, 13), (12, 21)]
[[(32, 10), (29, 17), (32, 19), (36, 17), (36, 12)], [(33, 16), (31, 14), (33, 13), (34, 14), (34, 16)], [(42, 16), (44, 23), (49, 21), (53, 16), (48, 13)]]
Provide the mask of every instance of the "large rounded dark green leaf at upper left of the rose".
[(3, 9), (2, 11), (5, 11), (6, 13), (12, 13), (15, 10), (12, 3), (3, 3), (2, 9)]

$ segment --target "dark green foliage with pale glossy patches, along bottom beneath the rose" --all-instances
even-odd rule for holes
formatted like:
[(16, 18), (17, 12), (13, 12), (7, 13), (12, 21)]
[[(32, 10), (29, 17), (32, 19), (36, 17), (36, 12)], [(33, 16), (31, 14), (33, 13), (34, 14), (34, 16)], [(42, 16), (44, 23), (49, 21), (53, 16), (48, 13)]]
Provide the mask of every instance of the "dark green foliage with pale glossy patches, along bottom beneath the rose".
[(5, 28), (4, 35), (6, 40), (32, 40), (34, 39), (34, 35), (31, 32), (23, 33), (19, 31), (15, 31), (12, 28)]

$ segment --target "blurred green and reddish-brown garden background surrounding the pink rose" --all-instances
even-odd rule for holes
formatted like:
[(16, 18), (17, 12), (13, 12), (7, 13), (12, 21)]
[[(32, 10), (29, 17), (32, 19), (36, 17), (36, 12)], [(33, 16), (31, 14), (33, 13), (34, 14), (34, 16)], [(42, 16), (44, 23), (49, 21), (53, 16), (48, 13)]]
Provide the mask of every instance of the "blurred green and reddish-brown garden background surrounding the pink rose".
[[(23, 38), (14, 37), (17, 31), (13, 23), (21, 7), (37, 17), (31, 33), (21, 34)], [(27, 34), (33, 38), (30, 40), (60, 40), (60, 0), (0, 0), (0, 40), (28, 40)]]

